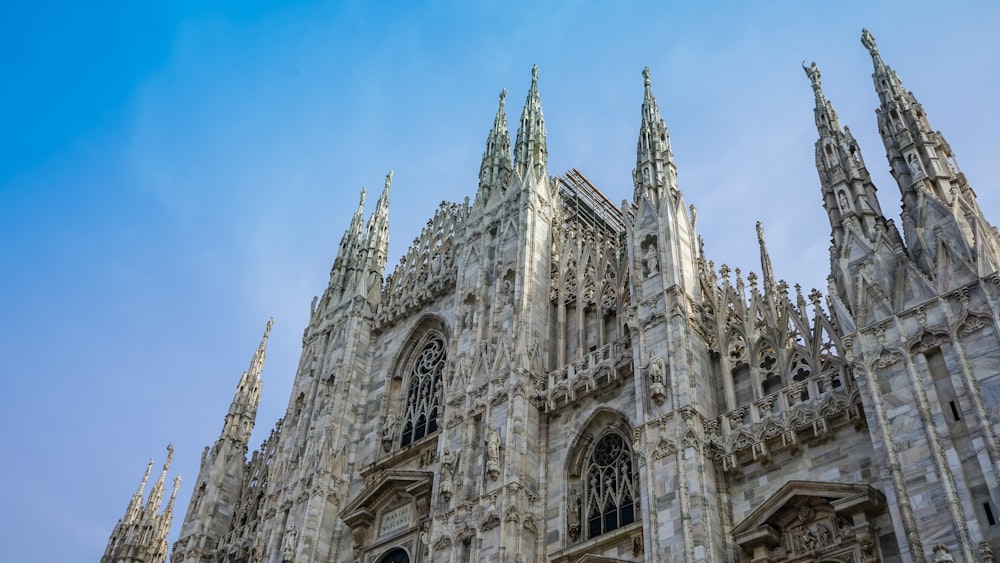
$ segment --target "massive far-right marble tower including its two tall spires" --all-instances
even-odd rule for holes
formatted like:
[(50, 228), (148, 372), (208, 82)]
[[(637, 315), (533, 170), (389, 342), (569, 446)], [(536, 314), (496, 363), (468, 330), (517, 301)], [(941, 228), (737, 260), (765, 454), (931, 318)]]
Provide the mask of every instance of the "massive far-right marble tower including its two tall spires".
[[(850, 133), (816, 93), (816, 164), (833, 228), (831, 288), (900, 555), (977, 561), (996, 541), (1000, 442), (983, 388), (1000, 381), (997, 239), (943, 135), (871, 33), (903, 238), (882, 216)], [(937, 555), (935, 555), (935, 560)]]

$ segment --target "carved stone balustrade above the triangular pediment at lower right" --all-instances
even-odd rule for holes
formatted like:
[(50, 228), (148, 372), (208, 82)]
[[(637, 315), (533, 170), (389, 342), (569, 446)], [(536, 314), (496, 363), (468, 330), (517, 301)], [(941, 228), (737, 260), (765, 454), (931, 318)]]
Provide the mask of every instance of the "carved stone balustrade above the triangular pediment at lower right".
[(781, 449), (797, 452), (805, 440), (824, 440), (833, 430), (865, 424), (850, 370), (840, 366), (793, 381), (776, 393), (708, 421), (706, 433), (726, 471), (769, 463)]

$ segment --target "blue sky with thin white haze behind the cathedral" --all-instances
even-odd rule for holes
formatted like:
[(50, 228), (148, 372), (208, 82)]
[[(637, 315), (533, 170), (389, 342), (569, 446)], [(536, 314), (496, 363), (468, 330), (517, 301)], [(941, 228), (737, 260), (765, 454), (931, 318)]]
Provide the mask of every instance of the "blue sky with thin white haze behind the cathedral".
[[(204, 446), (275, 317), (253, 443), (283, 415), (313, 295), (362, 186), (395, 171), (390, 264), (474, 196), (497, 95), (540, 68), (549, 171), (632, 194), (643, 66), (717, 264), (826, 289), (815, 60), (898, 213), (862, 27), (1000, 221), (1000, 4), (31, 2), (0, 23), (0, 543), (94, 561), (176, 447)], [(512, 131), (513, 133), (513, 131)], [(368, 212), (374, 206), (369, 198)], [(39, 552), (39, 548), (44, 550)]]

